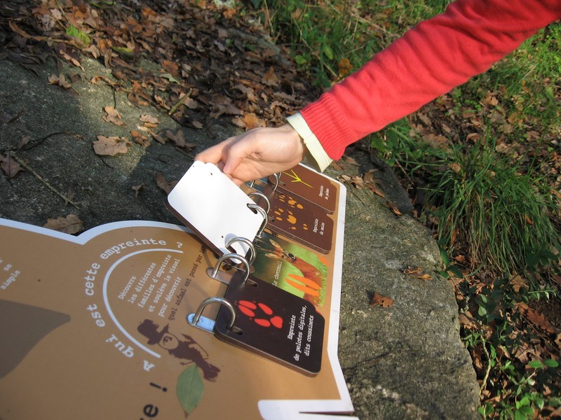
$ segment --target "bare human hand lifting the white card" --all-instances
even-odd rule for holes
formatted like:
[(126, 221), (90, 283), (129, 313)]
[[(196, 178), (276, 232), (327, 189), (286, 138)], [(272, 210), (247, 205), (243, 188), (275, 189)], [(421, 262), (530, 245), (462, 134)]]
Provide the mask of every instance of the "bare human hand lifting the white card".
[(211, 162), (236, 185), (293, 168), (304, 157), (304, 142), (289, 124), (254, 128), (229, 137), (198, 155)]

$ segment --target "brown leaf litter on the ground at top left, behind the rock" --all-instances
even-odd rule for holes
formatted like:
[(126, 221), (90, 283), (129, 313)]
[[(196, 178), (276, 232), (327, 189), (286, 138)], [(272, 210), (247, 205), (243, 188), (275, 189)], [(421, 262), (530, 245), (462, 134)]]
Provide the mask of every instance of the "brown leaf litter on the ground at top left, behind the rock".
[[(8, 0), (0, 16), (0, 59), (29, 71), (48, 59), (83, 69), (81, 56), (88, 55), (114, 76), (90, 83), (126, 91), (132, 104), (157, 106), (186, 127), (212, 130), (219, 117), (244, 129), (278, 124), (313, 97), (288, 55), (236, 9), (191, 1)], [(49, 80), (72, 89), (80, 78), (76, 71)], [(119, 124), (117, 110), (106, 112)]]

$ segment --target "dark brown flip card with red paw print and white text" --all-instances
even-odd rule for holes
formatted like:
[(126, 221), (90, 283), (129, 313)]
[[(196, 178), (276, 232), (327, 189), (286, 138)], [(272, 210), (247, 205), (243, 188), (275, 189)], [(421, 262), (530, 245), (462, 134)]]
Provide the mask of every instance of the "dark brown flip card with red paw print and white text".
[(244, 274), (232, 276), (224, 298), (236, 310), (221, 306), (215, 335), (225, 342), (257, 353), (304, 374), (321, 369), (325, 319), (313, 304), (280, 290), (265, 281)]

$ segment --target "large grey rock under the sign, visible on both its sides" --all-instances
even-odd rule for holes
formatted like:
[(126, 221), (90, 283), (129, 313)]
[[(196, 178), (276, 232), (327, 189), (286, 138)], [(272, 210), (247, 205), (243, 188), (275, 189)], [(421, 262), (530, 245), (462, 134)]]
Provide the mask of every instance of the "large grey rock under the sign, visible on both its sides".
[[(86, 78), (106, 71), (84, 60)], [(154, 176), (179, 179), (191, 158), (171, 144), (130, 146), (126, 155), (102, 158), (93, 152), (98, 134), (127, 136), (149, 113), (160, 120), (158, 130), (177, 123), (156, 109), (137, 109), (122, 93), (117, 109), (126, 126), (101, 118), (114, 104), (107, 85), (79, 83), (76, 92), (48, 85), (45, 66), (35, 75), (0, 61), (0, 111), (19, 118), (0, 123), (0, 149), (15, 148), (23, 137), (44, 139), (28, 151), (17, 151), (30, 171), (13, 179), (0, 176), (0, 216), (43, 225), (47, 218), (75, 213), (85, 228), (130, 219), (177, 220), (165, 209), (165, 193)], [(109, 76), (109, 75), (107, 75)], [(198, 150), (233, 134), (217, 125), (215, 139), (188, 130)], [(55, 134), (59, 133), (59, 134)], [(196, 151), (194, 151), (196, 152)], [(346, 167), (351, 174), (354, 167)], [(328, 174), (339, 176), (340, 172)], [(391, 170), (385, 174), (391, 181)], [(133, 186), (142, 185), (138, 197)], [(403, 190), (388, 182), (393, 202), (405, 202)], [(76, 206), (60, 195), (72, 196)], [(405, 198), (404, 198), (405, 197)], [(349, 190), (339, 358), (361, 419), (475, 419), (478, 389), (471, 360), (459, 338), (457, 306), (452, 288), (438, 276), (438, 248), (427, 230), (410, 216), (396, 217), (383, 200), (366, 190)], [(403, 274), (407, 266), (422, 267), (429, 281)], [(391, 308), (370, 304), (372, 293), (391, 297)]]

